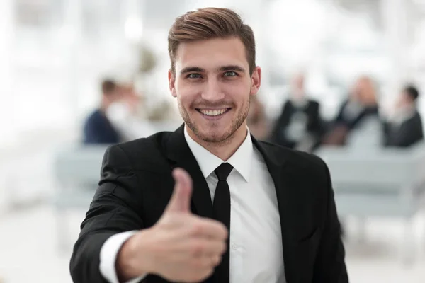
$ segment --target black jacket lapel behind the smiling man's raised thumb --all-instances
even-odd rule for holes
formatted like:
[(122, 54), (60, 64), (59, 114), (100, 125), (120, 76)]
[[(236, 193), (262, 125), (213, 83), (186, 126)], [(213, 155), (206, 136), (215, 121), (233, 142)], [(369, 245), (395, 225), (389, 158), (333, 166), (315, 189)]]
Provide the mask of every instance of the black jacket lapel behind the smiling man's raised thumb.
[(212, 201), (210, 189), (203, 177), (195, 156), (184, 137), (184, 125), (173, 132), (166, 141), (166, 156), (172, 167), (180, 167), (188, 171), (193, 180), (192, 204), (199, 216), (212, 218)]

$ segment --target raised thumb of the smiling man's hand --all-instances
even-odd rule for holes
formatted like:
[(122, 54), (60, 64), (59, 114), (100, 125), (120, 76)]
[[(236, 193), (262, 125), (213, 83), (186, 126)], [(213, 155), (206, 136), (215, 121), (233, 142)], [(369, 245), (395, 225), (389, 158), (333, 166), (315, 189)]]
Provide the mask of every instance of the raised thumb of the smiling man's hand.
[(166, 212), (190, 212), (192, 195), (192, 178), (182, 168), (173, 171), (174, 192), (167, 205)]

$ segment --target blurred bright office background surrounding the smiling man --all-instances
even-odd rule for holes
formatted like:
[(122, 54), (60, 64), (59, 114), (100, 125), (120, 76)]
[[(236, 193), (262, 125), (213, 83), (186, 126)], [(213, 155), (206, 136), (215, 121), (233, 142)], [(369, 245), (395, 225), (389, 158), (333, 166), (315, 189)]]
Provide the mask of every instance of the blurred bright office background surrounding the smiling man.
[(351, 282), (425, 280), (425, 0), (0, 0), (0, 282), (71, 282), (106, 146), (181, 125), (174, 18), (234, 8), (249, 127), (327, 161)]

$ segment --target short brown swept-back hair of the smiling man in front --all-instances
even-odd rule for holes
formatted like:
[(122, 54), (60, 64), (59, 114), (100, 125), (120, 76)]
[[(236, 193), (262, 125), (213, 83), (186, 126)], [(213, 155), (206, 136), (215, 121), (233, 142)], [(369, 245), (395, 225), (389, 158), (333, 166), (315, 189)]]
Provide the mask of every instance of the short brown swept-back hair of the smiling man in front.
[(175, 75), (176, 52), (181, 42), (217, 37), (239, 37), (242, 40), (249, 74), (252, 74), (256, 67), (254, 32), (237, 13), (227, 8), (201, 8), (176, 18), (168, 36), (171, 72)]

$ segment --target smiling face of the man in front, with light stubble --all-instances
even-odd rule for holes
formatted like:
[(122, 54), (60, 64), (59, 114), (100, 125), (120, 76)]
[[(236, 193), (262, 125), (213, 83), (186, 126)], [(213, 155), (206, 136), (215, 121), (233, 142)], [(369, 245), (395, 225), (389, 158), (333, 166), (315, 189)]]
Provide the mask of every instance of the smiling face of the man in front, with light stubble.
[(249, 75), (244, 44), (237, 37), (186, 42), (176, 54), (171, 94), (188, 130), (198, 139), (220, 143), (246, 127), (250, 97), (261, 84), (261, 69)]

